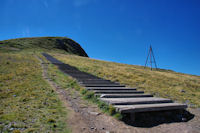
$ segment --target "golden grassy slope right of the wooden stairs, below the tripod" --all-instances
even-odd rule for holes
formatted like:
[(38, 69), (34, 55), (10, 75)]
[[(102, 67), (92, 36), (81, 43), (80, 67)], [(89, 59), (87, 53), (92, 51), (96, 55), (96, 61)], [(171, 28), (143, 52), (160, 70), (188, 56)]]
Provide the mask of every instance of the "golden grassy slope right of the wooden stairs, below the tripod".
[(99, 61), (73, 55), (52, 54), (81, 71), (141, 88), (156, 96), (200, 107), (200, 77), (169, 70), (144, 69), (141, 66)]

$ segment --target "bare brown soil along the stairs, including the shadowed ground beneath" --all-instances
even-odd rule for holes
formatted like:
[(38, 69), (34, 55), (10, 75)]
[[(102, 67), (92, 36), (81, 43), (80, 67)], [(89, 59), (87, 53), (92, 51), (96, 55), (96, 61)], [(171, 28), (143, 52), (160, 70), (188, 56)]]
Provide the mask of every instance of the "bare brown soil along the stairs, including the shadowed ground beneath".
[(41, 61), (44, 79), (68, 111), (66, 123), (73, 133), (200, 133), (200, 109), (188, 108), (184, 117), (179, 117), (176, 111), (152, 112), (137, 114), (135, 122), (128, 115), (119, 121), (82, 99), (79, 92), (58, 86), (47, 74), (48, 64), (37, 58)]

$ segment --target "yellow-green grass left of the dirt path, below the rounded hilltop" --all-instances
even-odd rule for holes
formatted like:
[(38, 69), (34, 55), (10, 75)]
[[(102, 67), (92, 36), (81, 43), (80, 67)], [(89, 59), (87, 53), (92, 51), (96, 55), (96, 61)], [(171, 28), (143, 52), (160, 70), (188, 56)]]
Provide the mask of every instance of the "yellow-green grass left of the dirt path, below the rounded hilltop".
[(0, 53), (0, 132), (68, 132), (67, 112), (32, 54)]

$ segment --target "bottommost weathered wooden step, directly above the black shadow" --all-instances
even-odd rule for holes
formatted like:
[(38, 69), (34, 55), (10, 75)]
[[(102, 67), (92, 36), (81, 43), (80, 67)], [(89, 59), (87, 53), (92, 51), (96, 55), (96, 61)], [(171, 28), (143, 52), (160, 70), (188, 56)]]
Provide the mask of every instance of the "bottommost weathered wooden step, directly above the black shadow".
[(186, 104), (180, 103), (160, 103), (160, 104), (139, 104), (139, 105), (114, 105), (117, 111), (121, 113), (150, 112), (185, 109)]

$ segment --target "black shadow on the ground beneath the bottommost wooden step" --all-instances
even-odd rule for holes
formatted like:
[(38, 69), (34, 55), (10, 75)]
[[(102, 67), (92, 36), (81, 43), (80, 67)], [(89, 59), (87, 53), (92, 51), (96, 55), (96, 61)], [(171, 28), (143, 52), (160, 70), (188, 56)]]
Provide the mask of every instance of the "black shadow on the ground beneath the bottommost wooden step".
[(130, 114), (124, 114), (122, 121), (130, 126), (151, 128), (164, 123), (188, 122), (195, 115), (186, 110), (159, 111), (135, 113), (135, 121), (131, 120)]

